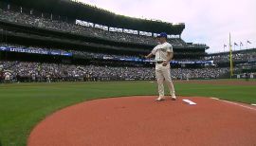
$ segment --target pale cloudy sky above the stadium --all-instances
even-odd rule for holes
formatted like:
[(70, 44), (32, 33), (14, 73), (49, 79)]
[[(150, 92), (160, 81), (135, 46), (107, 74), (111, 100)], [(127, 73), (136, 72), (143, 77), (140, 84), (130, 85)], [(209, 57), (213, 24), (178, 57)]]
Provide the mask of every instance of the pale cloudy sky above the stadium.
[[(209, 53), (256, 46), (256, 0), (79, 0), (117, 14), (185, 23), (181, 38)], [(251, 44), (248, 44), (249, 41)], [(238, 46), (235, 46), (236, 43)]]

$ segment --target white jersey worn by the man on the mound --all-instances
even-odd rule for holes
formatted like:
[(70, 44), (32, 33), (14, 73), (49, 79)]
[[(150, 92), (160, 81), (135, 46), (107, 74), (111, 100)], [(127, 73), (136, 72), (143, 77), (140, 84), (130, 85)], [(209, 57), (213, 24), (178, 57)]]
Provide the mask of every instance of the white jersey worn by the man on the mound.
[(162, 62), (167, 60), (167, 52), (173, 52), (173, 46), (167, 42), (155, 46), (152, 54), (155, 55), (155, 62)]

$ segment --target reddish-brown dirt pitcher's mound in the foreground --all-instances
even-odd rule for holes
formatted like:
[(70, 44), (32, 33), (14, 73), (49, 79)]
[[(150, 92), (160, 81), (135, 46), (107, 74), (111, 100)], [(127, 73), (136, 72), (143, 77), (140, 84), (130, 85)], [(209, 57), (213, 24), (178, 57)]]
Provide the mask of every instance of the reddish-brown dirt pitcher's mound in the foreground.
[(207, 98), (179, 97), (158, 102), (150, 96), (91, 100), (47, 117), (31, 132), (27, 144), (254, 146), (256, 110)]

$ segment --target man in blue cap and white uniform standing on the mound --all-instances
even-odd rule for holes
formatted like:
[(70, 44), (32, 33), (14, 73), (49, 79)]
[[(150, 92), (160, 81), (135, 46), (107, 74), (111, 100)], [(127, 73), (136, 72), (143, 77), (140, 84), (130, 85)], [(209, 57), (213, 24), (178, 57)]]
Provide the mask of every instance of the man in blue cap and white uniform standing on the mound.
[(167, 34), (165, 32), (157, 36), (157, 41), (159, 45), (155, 46), (151, 53), (145, 56), (146, 59), (149, 59), (155, 55), (155, 77), (159, 93), (159, 97), (156, 100), (164, 100), (164, 81), (169, 87), (171, 99), (176, 100), (174, 83), (170, 72), (170, 61), (174, 57), (173, 46), (166, 42)]

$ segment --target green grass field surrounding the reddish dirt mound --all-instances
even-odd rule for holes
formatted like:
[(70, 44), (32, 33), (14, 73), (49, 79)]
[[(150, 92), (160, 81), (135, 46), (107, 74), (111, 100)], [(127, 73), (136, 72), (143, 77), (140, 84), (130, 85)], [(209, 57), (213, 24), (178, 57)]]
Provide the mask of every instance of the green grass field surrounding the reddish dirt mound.
[[(255, 82), (255, 81), (254, 81)], [(179, 96), (256, 103), (256, 86), (177, 82)], [(153, 82), (59, 82), (0, 84), (0, 146), (25, 146), (32, 128), (68, 105), (119, 96), (156, 95)]]

